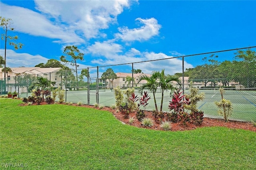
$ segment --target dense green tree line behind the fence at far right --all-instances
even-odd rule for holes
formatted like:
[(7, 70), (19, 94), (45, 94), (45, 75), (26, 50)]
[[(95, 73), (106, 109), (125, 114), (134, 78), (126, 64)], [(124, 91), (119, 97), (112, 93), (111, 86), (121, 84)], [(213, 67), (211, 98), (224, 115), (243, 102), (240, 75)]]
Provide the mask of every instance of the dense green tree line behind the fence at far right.
[[(234, 61), (219, 62), (218, 55), (205, 57), (205, 64), (194, 68), (187, 68), (184, 76), (189, 77), (189, 82), (203, 82), (204, 87), (210, 82), (213, 87), (218, 82), (222, 86), (231, 86), (231, 82), (239, 82), (246, 88), (256, 88), (256, 52), (251, 49), (238, 50), (234, 53)], [(182, 76), (182, 73), (176, 73)]]

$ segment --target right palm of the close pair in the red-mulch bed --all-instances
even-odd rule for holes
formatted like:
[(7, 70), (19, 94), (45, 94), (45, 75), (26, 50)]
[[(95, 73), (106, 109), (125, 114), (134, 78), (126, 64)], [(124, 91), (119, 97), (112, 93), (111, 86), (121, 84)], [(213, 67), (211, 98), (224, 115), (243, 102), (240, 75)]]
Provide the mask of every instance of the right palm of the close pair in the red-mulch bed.
[(179, 85), (181, 85), (181, 80), (176, 76), (166, 76), (164, 74), (164, 69), (161, 71), (161, 73), (158, 75), (158, 83), (159, 87), (162, 90), (162, 98), (161, 98), (161, 106), (160, 111), (162, 111), (163, 107), (163, 100), (164, 100), (164, 91), (165, 90), (171, 90), (173, 92), (174, 90), (177, 90), (175, 86), (173, 86), (172, 82), (177, 82)]

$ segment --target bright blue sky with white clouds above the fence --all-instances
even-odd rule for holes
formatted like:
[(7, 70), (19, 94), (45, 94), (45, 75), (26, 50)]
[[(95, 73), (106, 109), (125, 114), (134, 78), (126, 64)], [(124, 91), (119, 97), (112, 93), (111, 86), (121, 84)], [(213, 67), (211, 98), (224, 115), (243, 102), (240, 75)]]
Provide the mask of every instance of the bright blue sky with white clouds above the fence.
[[(16, 32), (9, 35), (24, 44), (7, 47), (8, 67), (60, 60), (64, 47), (75, 45), (84, 53), (79, 68), (87, 68), (255, 46), (255, 8), (256, 1), (1, 0), (0, 16), (12, 18)], [(198, 64), (201, 59), (184, 63)], [(150, 67), (136, 68), (161, 69)], [(170, 74), (182, 71), (175, 68)]]

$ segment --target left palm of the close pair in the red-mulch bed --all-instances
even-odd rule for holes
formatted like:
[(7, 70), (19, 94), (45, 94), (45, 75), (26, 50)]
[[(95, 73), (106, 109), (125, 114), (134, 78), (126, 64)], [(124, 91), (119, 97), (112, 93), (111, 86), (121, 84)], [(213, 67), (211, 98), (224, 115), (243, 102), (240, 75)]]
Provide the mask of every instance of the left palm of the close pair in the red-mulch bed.
[(146, 76), (146, 74), (141, 74), (139, 76), (139, 80), (138, 80), (138, 83), (141, 82), (142, 80), (146, 80), (147, 81), (145, 84), (142, 84), (142, 86), (140, 86), (139, 92), (142, 95), (143, 90), (145, 88), (148, 88), (153, 93), (156, 111), (158, 111), (158, 108), (157, 108), (157, 104), (156, 104), (156, 96), (155, 96), (155, 94), (156, 94), (156, 90), (157, 90), (157, 88), (159, 86), (159, 83), (158, 83), (159, 75), (160, 75), (159, 71), (158, 72), (153, 71), (151, 76)]

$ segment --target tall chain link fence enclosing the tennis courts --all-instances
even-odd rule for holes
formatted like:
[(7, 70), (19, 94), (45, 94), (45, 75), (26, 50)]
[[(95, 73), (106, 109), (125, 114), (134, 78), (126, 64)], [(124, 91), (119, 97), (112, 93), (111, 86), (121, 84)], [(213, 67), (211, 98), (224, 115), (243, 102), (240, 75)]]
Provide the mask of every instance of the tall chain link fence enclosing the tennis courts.
[[(189, 87), (204, 93), (204, 100), (198, 102), (198, 109), (204, 111), (204, 117), (220, 118), (218, 107), (214, 104), (221, 100), (219, 88), (224, 88), (223, 97), (230, 100), (233, 112), (230, 120), (256, 121), (256, 47), (226, 50), (198, 55), (188, 55), (136, 63), (96, 66), (78, 70), (62, 70), (44, 74), (20, 74), (0, 80), (1, 94), (17, 91), (19, 97), (28, 97), (30, 85), (36, 77), (43, 76), (56, 82), (54, 88), (65, 90), (66, 102), (82, 102), (84, 104), (115, 104), (114, 88), (135, 88), (135, 94), (141, 96), (139, 88), (146, 81), (139, 82), (140, 76), (150, 77), (153, 72), (164, 70), (164, 74), (178, 76), (181, 84), (173, 82), (173, 86), (181, 88), (189, 94)], [(194, 66), (190, 63), (195, 63)], [(114, 72), (114, 74), (113, 74)], [(152, 92), (147, 110), (154, 110)], [(163, 111), (168, 109), (171, 101), (170, 90), (164, 91)], [(161, 89), (156, 91), (156, 102), (160, 107)]]

